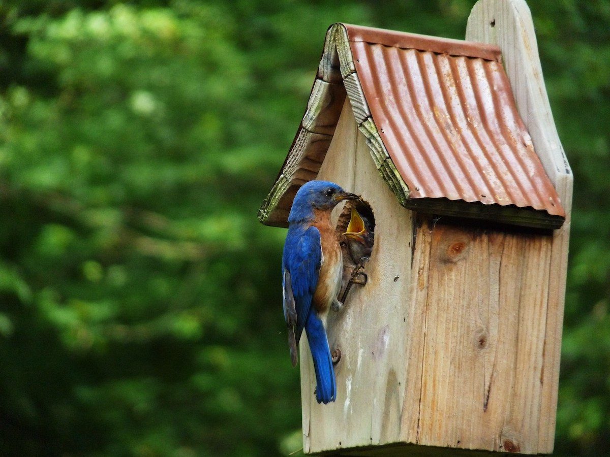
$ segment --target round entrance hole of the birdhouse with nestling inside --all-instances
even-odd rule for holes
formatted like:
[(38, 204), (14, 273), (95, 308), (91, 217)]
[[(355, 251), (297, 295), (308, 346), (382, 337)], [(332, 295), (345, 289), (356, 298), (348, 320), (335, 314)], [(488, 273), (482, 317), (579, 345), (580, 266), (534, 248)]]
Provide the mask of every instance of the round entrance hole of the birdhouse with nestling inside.
[[(356, 213), (353, 213), (353, 210)], [(375, 242), (375, 215), (370, 205), (362, 199), (346, 202), (339, 215), (336, 231), (343, 252), (342, 290), (345, 292), (340, 298), (346, 300), (350, 292), (348, 283), (351, 280), (356, 280), (356, 284), (367, 281), (367, 263), (370, 261)], [(364, 233), (357, 238), (346, 234), (353, 234), (354, 231)], [(360, 274), (357, 274), (358, 272)]]

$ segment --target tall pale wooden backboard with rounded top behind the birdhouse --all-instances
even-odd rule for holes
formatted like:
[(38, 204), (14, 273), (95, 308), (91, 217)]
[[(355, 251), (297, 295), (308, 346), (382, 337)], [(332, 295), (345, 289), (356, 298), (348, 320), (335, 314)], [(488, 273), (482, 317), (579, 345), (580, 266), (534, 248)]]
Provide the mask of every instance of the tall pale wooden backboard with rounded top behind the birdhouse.
[(559, 383), (559, 358), (564, 314), (567, 252), (572, 219), (573, 175), (553, 121), (534, 24), (523, 0), (479, 0), (473, 7), (466, 39), (500, 46), (517, 109), (534, 147), (553, 182), (566, 212), (564, 225), (554, 232), (551, 248), (549, 304), (545, 326), (545, 360), (540, 372), (540, 452), (552, 452)]

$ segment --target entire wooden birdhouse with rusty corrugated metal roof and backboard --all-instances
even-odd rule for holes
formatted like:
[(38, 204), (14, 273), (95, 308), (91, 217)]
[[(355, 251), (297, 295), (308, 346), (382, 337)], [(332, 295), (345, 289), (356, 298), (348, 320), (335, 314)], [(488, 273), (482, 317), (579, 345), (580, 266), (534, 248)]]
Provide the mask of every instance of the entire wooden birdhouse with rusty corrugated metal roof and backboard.
[(298, 188), (329, 180), (375, 238), (328, 319), (336, 402), (315, 401), (301, 341), (306, 453), (553, 450), (572, 174), (525, 2), (479, 1), (466, 39), (326, 34), (259, 218), (287, 227)]

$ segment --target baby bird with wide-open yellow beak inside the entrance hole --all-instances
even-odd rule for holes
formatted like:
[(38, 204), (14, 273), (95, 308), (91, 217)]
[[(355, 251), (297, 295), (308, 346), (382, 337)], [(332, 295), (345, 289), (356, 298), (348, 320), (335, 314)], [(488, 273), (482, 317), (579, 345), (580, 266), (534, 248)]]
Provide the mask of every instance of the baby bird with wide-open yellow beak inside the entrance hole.
[[(355, 207), (351, 208), (351, 218), (345, 233), (343, 235), (347, 239), (348, 251), (356, 265), (351, 273), (351, 277), (345, 291), (343, 292), (340, 302), (344, 303), (348, 292), (350, 292), (353, 284), (365, 285), (368, 277), (364, 272), (364, 265), (368, 262), (373, 252), (373, 238), (375, 237), (373, 224), (367, 217), (361, 216)], [(361, 276), (362, 279), (358, 277)], [(338, 310), (336, 310), (338, 311)]]

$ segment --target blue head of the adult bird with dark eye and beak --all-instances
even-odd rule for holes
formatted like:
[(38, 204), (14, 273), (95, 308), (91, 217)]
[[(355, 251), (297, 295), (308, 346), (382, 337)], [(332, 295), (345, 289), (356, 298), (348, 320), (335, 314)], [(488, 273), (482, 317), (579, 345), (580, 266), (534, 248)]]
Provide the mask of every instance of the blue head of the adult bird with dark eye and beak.
[(342, 200), (357, 200), (360, 197), (343, 190), (343, 188), (330, 181), (309, 181), (296, 193), (290, 210), (289, 222), (310, 219), (314, 210), (332, 210)]

